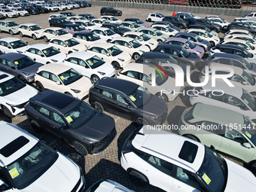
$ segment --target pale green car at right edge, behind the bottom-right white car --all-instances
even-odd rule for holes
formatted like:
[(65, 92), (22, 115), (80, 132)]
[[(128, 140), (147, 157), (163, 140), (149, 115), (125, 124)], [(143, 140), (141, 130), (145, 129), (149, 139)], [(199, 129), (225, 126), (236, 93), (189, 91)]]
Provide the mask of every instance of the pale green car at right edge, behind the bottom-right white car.
[(256, 170), (256, 132), (245, 115), (197, 103), (181, 115), (178, 134), (236, 157)]

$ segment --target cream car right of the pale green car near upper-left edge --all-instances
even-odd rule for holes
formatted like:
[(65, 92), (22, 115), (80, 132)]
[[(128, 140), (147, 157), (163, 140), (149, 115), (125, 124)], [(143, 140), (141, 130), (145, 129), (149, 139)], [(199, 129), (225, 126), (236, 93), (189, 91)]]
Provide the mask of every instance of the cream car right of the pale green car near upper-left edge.
[(19, 34), (20, 37), (29, 36), (32, 37), (34, 40), (43, 37), (44, 29), (41, 29), (40, 26), (34, 23), (26, 23), (21, 24), (19, 27)]

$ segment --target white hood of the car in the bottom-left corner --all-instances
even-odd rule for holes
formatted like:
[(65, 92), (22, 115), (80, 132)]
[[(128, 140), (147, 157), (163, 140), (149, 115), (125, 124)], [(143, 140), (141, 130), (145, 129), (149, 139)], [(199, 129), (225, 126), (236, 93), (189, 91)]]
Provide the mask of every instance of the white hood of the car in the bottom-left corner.
[(37, 191), (38, 189), (45, 192), (72, 191), (79, 178), (79, 167), (59, 154), (58, 159), (50, 166), (50, 169), (22, 191)]

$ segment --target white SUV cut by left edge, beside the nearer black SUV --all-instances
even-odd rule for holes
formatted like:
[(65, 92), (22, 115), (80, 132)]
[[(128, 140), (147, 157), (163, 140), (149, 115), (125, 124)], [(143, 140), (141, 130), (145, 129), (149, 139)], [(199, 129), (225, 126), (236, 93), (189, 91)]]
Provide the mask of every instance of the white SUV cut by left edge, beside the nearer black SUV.
[(5, 72), (0, 72), (0, 106), (10, 118), (23, 115), (24, 106), (38, 93), (34, 87)]

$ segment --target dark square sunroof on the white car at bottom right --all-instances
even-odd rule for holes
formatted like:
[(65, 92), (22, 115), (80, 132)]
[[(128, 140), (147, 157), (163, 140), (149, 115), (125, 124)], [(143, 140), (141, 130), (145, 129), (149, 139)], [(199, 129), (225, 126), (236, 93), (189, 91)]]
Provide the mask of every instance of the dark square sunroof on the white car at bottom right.
[(193, 163), (195, 157), (197, 156), (198, 146), (194, 143), (185, 141), (182, 145), (181, 152), (178, 154), (182, 160), (185, 160), (189, 163)]

